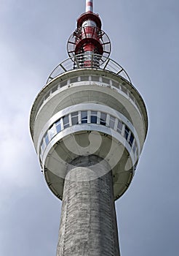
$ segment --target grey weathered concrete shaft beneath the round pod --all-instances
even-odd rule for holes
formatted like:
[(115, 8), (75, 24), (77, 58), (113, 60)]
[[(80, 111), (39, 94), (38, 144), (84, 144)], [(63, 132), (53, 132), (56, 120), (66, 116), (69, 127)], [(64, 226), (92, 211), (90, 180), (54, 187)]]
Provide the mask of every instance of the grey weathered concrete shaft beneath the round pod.
[(57, 256), (87, 255), (119, 256), (111, 171), (95, 156), (79, 157), (68, 170), (57, 244)]

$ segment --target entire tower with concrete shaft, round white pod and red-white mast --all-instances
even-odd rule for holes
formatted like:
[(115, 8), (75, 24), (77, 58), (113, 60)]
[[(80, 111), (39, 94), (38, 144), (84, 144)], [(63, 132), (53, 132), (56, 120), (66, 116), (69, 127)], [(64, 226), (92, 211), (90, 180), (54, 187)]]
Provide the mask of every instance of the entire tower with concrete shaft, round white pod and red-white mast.
[(119, 256), (114, 201), (135, 174), (148, 117), (92, 0), (49, 75), (30, 129), (49, 189), (63, 201), (57, 256)]

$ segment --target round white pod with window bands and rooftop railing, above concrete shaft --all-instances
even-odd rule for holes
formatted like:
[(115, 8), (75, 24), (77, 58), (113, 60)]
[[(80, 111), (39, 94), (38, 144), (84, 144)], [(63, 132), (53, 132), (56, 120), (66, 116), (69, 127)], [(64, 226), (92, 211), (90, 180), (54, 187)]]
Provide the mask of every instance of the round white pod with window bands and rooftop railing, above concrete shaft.
[(60, 199), (67, 166), (78, 155), (92, 154), (108, 162), (114, 200), (121, 197), (148, 127), (145, 103), (127, 72), (95, 53), (71, 56), (55, 67), (33, 103), (30, 123), (41, 169)]

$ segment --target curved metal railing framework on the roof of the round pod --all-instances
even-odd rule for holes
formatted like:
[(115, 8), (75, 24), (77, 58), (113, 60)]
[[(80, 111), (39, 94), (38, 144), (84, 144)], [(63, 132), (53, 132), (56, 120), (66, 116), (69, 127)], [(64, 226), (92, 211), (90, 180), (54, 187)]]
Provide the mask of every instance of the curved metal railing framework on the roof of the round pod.
[(49, 75), (47, 79), (47, 83), (49, 83), (52, 79), (56, 78), (58, 75), (63, 74), (64, 72), (74, 70), (74, 69), (84, 69), (84, 68), (93, 68), (93, 69), (101, 69), (107, 70), (115, 73), (116, 75), (122, 76), (122, 78), (126, 79), (131, 83), (129, 75), (120, 66), (116, 61), (109, 59), (106, 57), (103, 61), (101, 60), (102, 56), (99, 54), (93, 53), (83, 53), (71, 58), (65, 59), (65, 61), (61, 62), (52, 73)]

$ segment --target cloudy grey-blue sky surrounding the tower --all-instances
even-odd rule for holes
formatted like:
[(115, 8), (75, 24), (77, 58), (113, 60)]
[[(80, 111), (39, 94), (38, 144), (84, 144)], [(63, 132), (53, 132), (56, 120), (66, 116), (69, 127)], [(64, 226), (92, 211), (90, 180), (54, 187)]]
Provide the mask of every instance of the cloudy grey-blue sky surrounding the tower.
[[(61, 203), (49, 192), (29, 132), (33, 99), (66, 59), (85, 0), (0, 0), (0, 255), (56, 254)], [(179, 1), (94, 0), (146, 102), (138, 169), (116, 202), (122, 256), (179, 255)]]

